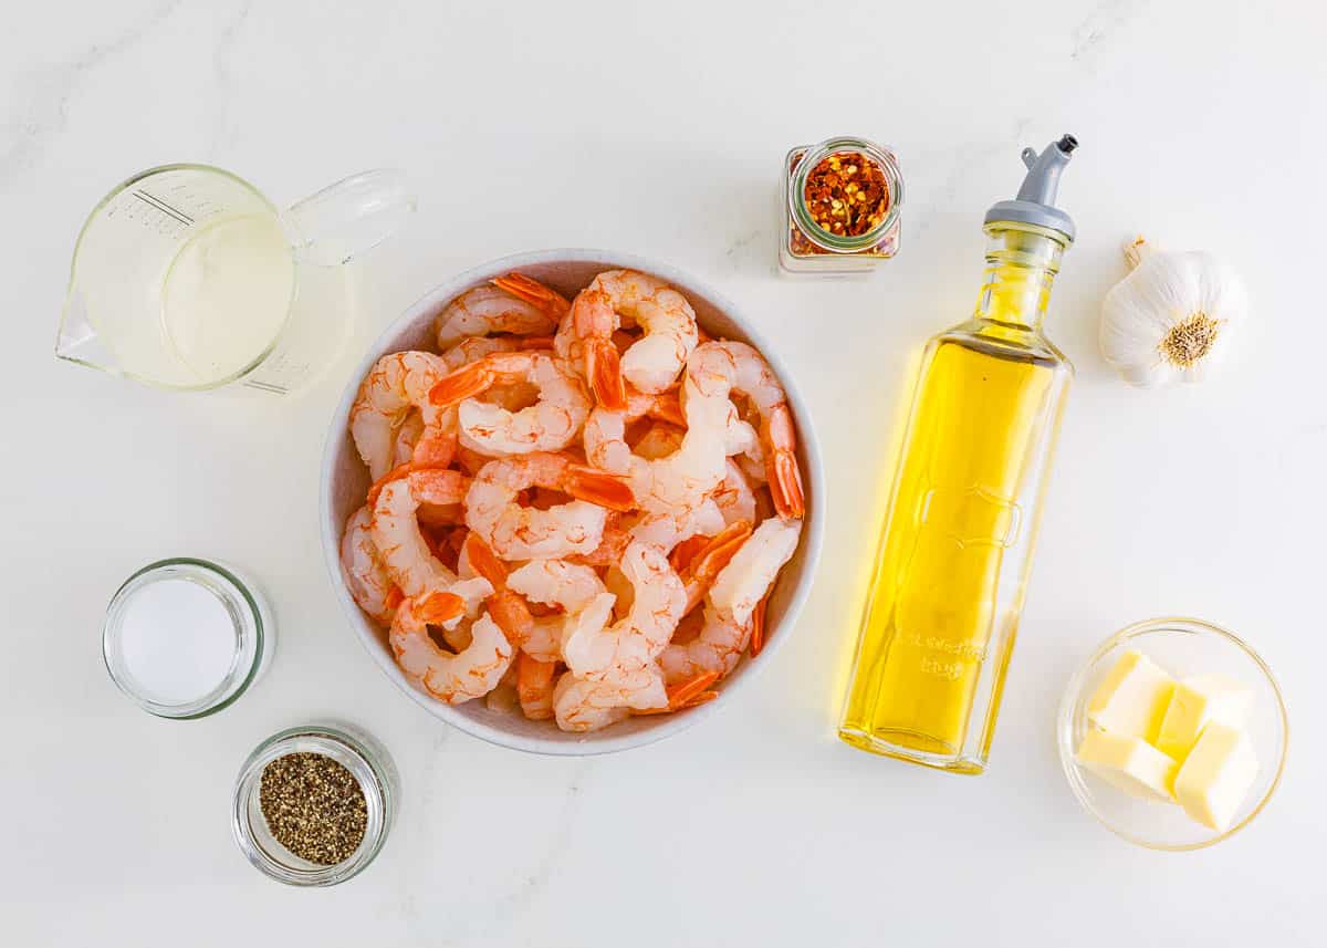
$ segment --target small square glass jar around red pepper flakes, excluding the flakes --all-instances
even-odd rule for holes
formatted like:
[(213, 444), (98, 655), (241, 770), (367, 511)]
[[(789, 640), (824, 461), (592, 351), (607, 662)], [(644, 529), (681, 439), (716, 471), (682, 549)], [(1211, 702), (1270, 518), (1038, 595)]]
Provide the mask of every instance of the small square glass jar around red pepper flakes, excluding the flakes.
[[(831, 234), (820, 227), (807, 207), (807, 175), (836, 154), (863, 154), (885, 175), (889, 204), (884, 219), (859, 235)], [(898, 211), (904, 203), (904, 179), (898, 159), (889, 149), (864, 138), (831, 138), (819, 145), (798, 145), (783, 159), (783, 232), (779, 266), (790, 274), (843, 276), (869, 274), (898, 252), (902, 228)]]

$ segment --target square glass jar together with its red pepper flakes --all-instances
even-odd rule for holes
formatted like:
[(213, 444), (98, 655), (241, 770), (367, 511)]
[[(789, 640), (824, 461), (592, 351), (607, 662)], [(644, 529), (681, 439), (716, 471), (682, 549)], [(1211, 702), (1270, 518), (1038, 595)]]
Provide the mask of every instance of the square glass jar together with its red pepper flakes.
[(779, 264), (792, 274), (867, 274), (898, 252), (904, 181), (864, 138), (799, 145), (783, 162)]

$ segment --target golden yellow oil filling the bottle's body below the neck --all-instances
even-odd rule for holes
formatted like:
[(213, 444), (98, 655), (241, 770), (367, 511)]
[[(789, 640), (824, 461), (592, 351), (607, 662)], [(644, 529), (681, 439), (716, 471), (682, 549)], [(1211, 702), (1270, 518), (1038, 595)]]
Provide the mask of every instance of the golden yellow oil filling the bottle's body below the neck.
[[(995, 636), (1001, 653), (993, 653), (993, 629), (1016, 620), (1022, 600), (1022, 563), (1005, 560), (1035, 530), (1024, 469), (1039, 461), (1046, 425), (1058, 421), (1059, 394), (1051, 358), (971, 336), (934, 344), (863, 620), (840, 729), (849, 744), (905, 757), (959, 754), (993, 663), (995, 692), (979, 713), (989, 706), (994, 717), (1013, 633)], [(1001, 588), (1002, 567), (1016, 571), (1013, 592)], [(994, 721), (977, 724), (989, 742)], [(986, 748), (979, 754), (985, 759)]]

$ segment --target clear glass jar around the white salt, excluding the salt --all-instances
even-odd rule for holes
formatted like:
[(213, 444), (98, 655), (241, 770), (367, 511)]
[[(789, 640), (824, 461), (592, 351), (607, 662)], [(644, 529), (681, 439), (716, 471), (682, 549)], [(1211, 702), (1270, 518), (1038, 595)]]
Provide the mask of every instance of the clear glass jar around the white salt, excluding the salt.
[[(135, 680), (123, 667), (121, 635), (123, 632), (125, 609), (135, 592), (153, 582), (159, 582), (157, 574), (184, 572), (187, 579), (202, 582), (208, 592), (215, 595), (230, 613), (235, 625), (235, 652), (231, 667), (207, 694), (192, 700), (169, 702), (159, 701), (135, 686)], [(245, 632), (252, 633), (252, 655)], [(115, 686), (134, 704), (149, 714), (170, 721), (194, 721), (230, 708), (239, 700), (257, 677), (263, 667), (269, 629), (264, 621), (264, 611), (248, 586), (234, 572), (206, 559), (192, 556), (171, 556), (134, 571), (126, 579), (106, 605), (102, 623), (101, 653), (106, 673)], [(247, 661), (245, 661), (247, 660)]]

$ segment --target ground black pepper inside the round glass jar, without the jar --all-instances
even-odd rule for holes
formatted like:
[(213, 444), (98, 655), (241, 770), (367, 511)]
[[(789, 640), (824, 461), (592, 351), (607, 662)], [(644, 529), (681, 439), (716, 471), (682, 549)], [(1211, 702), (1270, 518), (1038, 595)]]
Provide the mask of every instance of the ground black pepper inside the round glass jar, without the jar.
[(322, 754), (287, 754), (263, 767), (259, 806), (281, 846), (318, 866), (349, 859), (364, 840), (364, 790)]

